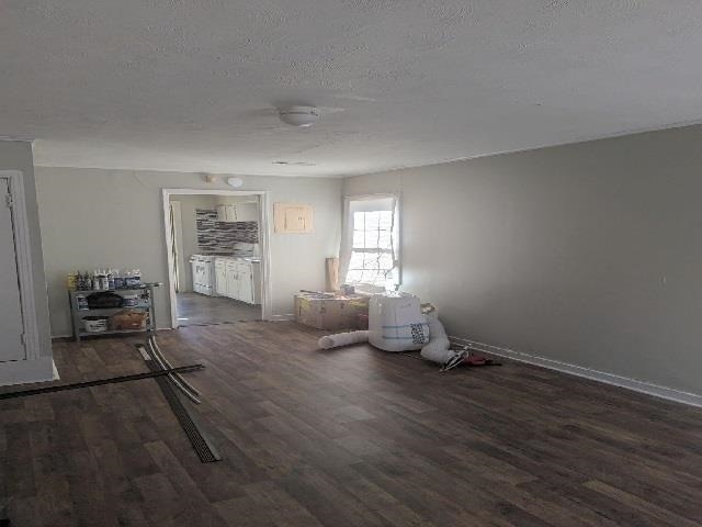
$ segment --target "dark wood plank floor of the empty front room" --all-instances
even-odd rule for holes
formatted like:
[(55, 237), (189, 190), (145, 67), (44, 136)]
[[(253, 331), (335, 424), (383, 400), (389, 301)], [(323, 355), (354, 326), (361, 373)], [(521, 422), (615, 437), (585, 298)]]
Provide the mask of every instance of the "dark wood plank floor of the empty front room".
[[(702, 525), (702, 410), (508, 362), (440, 373), (292, 323), (162, 332), (224, 461), (152, 380), (0, 402), (0, 502), (30, 526)], [(145, 370), (56, 345), (63, 382)]]

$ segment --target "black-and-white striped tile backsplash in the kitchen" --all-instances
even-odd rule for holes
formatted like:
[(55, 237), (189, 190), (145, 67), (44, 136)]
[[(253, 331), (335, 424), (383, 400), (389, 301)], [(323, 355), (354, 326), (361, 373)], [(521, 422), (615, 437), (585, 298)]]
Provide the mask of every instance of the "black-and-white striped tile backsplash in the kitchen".
[(259, 243), (258, 222), (218, 222), (217, 211), (197, 209), (197, 246), (203, 253), (230, 253), (234, 244)]

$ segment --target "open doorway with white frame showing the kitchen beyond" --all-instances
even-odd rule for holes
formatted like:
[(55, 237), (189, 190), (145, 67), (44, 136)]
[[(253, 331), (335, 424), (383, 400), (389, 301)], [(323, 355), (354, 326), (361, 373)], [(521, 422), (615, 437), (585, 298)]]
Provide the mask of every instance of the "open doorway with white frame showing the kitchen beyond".
[(165, 189), (171, 327), (269, 318), (268, 194)]

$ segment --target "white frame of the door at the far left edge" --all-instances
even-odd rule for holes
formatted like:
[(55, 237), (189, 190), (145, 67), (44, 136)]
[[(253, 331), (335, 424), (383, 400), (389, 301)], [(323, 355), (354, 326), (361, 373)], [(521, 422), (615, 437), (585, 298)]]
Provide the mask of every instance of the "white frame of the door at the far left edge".
[(30, 245), (30, 225), (24, 200), (24, 177), (20, 170), (0, 170), (0, 178), (10, 182), (12, 197), (12, 224), (14, 229), (15, 258), (20, 280), (22, 302), (22, 324), (24, 328), (24, 349), (26, 360), (38, 360), (39, 330), (34, 303), (34, 277), (32, 276), (32, 248)]

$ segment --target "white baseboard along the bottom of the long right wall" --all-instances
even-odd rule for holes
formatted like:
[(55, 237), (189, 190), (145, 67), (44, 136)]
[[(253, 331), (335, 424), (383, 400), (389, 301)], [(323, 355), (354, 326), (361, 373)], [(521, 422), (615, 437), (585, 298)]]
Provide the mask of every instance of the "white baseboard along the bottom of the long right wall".
[(490, 344), (478, 343), (468, 338), (455, 336), (450, 336), (449, 338), (451, 339), (451, 341), (457, 345), (469, 346), (471, 348), (475, 348), (478, 351), (484, 351), (486, 354), (497, 355), (498, 357), (505, 357), (507, 359), (540, 366), (548, 370), (556, 370), (563, 373), (569, 373), (571, 375), (584, 377), (586, 379), (603, 382), (605, 384), (613, 384), (615, 386), (625, 388), (627, 390), (645, 393), (647, 395), (653, 395), (654, 397), (667, 399), (668, 401), (675, 401), (677, 403), (702, 407), (702, 395), (698, 395), (697, 393), (683, 392), (673, 388), (661, 386), (659, 384), (653, 384), (645, 381), (638, 381), (636, 379), (630, 379), (627, 377), (616, 375), (614, 373), (608, 373), (605, 371), (593, 370), (584, 366), (546, 359), (544, 357), (524, 354), (522, 351), (516, 351), (509, 348), (501, 348), (499, 346), (492, 346)]

